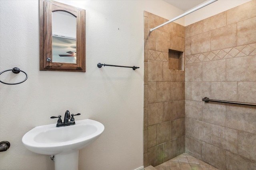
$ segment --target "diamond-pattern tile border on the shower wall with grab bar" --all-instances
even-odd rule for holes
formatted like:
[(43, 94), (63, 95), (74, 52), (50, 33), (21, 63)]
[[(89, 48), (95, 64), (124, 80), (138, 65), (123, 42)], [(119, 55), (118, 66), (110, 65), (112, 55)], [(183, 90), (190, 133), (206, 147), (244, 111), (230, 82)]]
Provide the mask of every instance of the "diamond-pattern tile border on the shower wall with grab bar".
[(202, 61), (212, 61), (220, 59), (230, 59), (234, 57), (244, 57), (248, 55), (256, 55), (256, 43), (249, 45), (242, 45), (238, 47), (231, 47), (227, 49), (215, 50), (206, 53), (199, 53), (194, 55), (187, 55), (185, 63), (199, 63)]

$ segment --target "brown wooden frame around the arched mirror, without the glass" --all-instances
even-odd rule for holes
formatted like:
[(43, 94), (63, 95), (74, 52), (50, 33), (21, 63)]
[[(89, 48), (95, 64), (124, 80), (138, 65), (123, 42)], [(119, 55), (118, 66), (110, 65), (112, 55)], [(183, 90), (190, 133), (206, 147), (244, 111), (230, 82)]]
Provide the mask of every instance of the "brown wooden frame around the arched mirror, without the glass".
[[(40, 70), (85, 72), (85, 10), (52, 0), (40, 0)], [(76, 64), (52, 62), (52, 12), (76, 17)], [(50, 58), (50, 62), (46, 61)]]

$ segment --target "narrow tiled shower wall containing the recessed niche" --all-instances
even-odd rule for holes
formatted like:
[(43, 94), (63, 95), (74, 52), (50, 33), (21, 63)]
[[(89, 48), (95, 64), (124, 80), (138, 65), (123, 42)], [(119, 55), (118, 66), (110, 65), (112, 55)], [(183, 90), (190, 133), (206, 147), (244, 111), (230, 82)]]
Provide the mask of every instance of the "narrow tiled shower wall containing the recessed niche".
[(184, 52), (185, 27), (144, 12), (144, 167), (184, 152), (184, 71), (168, 69), (169, 49)]

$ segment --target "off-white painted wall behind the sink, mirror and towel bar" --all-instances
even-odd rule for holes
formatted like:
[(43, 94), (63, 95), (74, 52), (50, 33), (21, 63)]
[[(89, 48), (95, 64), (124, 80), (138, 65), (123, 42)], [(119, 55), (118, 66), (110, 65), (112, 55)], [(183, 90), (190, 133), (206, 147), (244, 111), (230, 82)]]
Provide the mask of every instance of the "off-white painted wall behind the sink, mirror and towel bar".
[[(80, 150), (80, 170), (133, 170), (143, 165), (143, 11), (182, 14), (162, 1), (61, 1), (86, 10), (86, 73), (39, 71), (38, 0), (0, 1), (0, 70), (28, 73), (18, 85), (0, 84), (1, 170), (53, 170), (49, 155), (30, 152), (22, 136), (51, 116), (81, 113), (105, 125), (102, 136)], [(184, 20), (180, 21), (184, 25)], [(138, 70), (97, 63), (136, 65)], [(7, 72), (1, 80), (18, 81)]]

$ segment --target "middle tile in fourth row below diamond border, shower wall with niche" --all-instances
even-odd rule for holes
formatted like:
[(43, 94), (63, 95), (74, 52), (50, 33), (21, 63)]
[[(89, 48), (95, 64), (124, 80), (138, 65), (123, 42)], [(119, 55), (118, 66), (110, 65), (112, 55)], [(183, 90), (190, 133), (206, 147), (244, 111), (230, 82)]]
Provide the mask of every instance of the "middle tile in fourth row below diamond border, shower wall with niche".
[(170, 121), (156, 125), (156, 145), (170, 141)]

